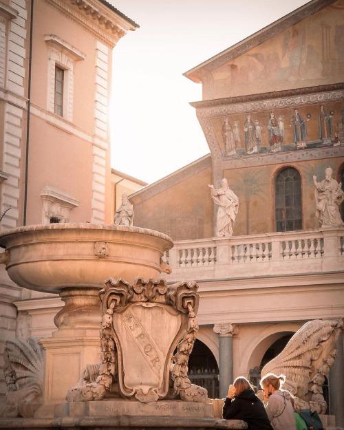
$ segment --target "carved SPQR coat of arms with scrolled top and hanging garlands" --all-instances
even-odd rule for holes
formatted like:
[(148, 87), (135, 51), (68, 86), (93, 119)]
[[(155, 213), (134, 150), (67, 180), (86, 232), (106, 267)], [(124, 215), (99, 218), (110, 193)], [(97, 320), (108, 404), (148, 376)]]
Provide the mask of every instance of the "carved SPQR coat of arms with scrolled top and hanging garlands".
[[(138, 278), (131, 286), (110, 278), (104, 287), (100, 291), (101, 363), (87, 365), (79, 383), (69, 389), (67, 400), (101, 400), (120, 394), (153, 402), (171, 394), (171, 382), (174, 398), (206, 402), (206, 389), (191, 384), (187, 377), (198, 330), (197, 284), (167, 287), (164, 279)], [(144, 383), (141, 372), (146, 372)]]

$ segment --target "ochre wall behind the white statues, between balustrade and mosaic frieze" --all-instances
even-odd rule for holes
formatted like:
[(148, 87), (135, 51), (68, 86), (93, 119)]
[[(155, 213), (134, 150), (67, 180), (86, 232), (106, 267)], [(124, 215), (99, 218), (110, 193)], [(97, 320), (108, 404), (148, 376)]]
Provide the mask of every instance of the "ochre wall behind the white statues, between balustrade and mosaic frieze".
[[(331, 166), (333, 178), (339, 182), (343, 165), (343, 159), (329, 158), (225, 170), (224, 178), (239, 197), (239, 213), (235, 219), (233, 235), (276, 231), (275, 178), (286, 167), (297, 169), (301, 176), (303, 230), (319, 228), (320, 224), (315, 216), (313, 175), (320, 182), (325, 179), (326, 167)], [(212, 183), (211, 178), (211, 169), (207, 169), (178, 184), (172, 184), (169, 189), (153, 197), (145, 199), (142, 193), (141, 202), (138, 197), (131, 200), (135, 212), (134, 225), (158, 230), (171, 236), (173, 240), (213, 237), (213, 214), (216, 207), (208, 188), (208, 184)], [(215, 188), (219, 187), (219, 184), (214, 185)]]

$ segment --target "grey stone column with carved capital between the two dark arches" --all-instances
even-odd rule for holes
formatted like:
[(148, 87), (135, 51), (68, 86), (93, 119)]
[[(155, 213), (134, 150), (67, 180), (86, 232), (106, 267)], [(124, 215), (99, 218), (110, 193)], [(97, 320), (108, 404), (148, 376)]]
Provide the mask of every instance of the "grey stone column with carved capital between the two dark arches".
[(219, 334), (219, 398), (224, 398), (233, 383), (233, 334), (239, 333), (239, 328), (221, 323), (214, 325), (214, 332)]

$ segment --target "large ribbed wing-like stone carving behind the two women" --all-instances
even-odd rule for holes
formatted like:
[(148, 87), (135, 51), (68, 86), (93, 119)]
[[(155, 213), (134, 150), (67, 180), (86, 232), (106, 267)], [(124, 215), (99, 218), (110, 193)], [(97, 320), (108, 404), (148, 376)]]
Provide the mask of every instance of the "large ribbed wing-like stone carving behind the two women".
[(292, 336), (284, 350), (261, 370), (286, 375), (283, 389), (295, 398), (296, 409), (310, 408), (325, 413), (323, 383), (337, 355), (336, 343), (343, 320), (314, 320), (305, 323)]

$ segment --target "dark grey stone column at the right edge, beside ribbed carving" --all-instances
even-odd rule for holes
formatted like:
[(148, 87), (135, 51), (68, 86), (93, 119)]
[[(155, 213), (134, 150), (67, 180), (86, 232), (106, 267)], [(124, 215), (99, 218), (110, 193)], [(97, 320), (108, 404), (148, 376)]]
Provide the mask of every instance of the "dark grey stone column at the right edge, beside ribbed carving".
[(330, 415), (336, 416), (336, 427), (344, 427), (344, 330), (343, 325), (337, 341), (337, 358), (330, 369), (329, 394)]

